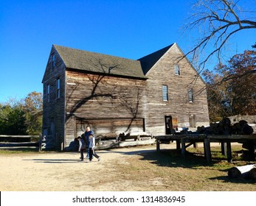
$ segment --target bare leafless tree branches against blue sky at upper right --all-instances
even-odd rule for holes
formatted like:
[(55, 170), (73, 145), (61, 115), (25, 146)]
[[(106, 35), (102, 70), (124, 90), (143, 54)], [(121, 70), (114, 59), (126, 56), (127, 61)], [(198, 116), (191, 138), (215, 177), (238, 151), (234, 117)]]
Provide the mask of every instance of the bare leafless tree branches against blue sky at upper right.
[(197, 29), (202, 34), (196, 46), (185, 56), (192, 54), (194, 60), (198, 54), (204, 53), (207, 49), (206, 56), (198, 65), (199, 73), (214, 55), (221, 63), (221, 51), (232, 35), (245, 29), (256, 29), (256, 11), (242, 9), (239, 4), (243, 6), (244, 2), (246, 0), (198, 0), (193, 5), (196, 12), (190, 15), (190, 22), (184, 29), (186, 31)]

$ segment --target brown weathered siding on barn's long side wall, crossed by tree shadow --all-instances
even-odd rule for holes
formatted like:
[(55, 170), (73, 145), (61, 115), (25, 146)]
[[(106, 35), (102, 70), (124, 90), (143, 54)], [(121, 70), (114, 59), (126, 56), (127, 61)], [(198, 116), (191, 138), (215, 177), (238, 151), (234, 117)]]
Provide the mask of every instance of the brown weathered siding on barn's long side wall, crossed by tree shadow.
[(96, 136), (144, 130), (145, 80), (66, 71), (66, 142), (90, 125)]

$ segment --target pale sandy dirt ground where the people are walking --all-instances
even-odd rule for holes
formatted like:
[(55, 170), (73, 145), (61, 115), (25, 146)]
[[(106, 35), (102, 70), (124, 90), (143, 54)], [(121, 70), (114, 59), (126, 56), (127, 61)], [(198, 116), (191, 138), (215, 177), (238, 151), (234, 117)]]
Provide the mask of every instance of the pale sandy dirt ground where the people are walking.
[(78, 152), (0, 154), (0, 191), (145, 191), (148, 184), (120, 182), (114, 162), (152, 151), (155, 145), (99, 150), (100, 162), (91, 163)]

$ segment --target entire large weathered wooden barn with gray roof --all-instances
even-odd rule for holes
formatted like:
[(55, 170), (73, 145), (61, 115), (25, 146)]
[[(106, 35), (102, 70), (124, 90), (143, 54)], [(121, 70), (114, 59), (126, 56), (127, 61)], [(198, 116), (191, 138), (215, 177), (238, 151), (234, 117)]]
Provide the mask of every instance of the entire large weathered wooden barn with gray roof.
[(46, 146), (66, 149), (87, 125), (96, 137), (208, 126), (205, 83), (183, 56), (176, 43), (139, 60), (53, 45), (42, 80)]

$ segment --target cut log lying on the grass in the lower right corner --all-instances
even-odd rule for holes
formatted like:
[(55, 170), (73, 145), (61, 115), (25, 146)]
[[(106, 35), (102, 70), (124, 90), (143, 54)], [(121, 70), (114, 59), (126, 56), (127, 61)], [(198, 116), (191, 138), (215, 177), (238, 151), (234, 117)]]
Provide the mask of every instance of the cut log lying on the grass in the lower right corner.
[[(256, 165), (246, 165), (246, 166), (237, 166), (229, 168), (228, 176), (230, 178), (238, 178), (238, 177), (249, 177), (249, 171), (252, 170), (252, 168), (256, 169)], [(252, 177), (256, 175), (256, 171), (252, 171)]]

